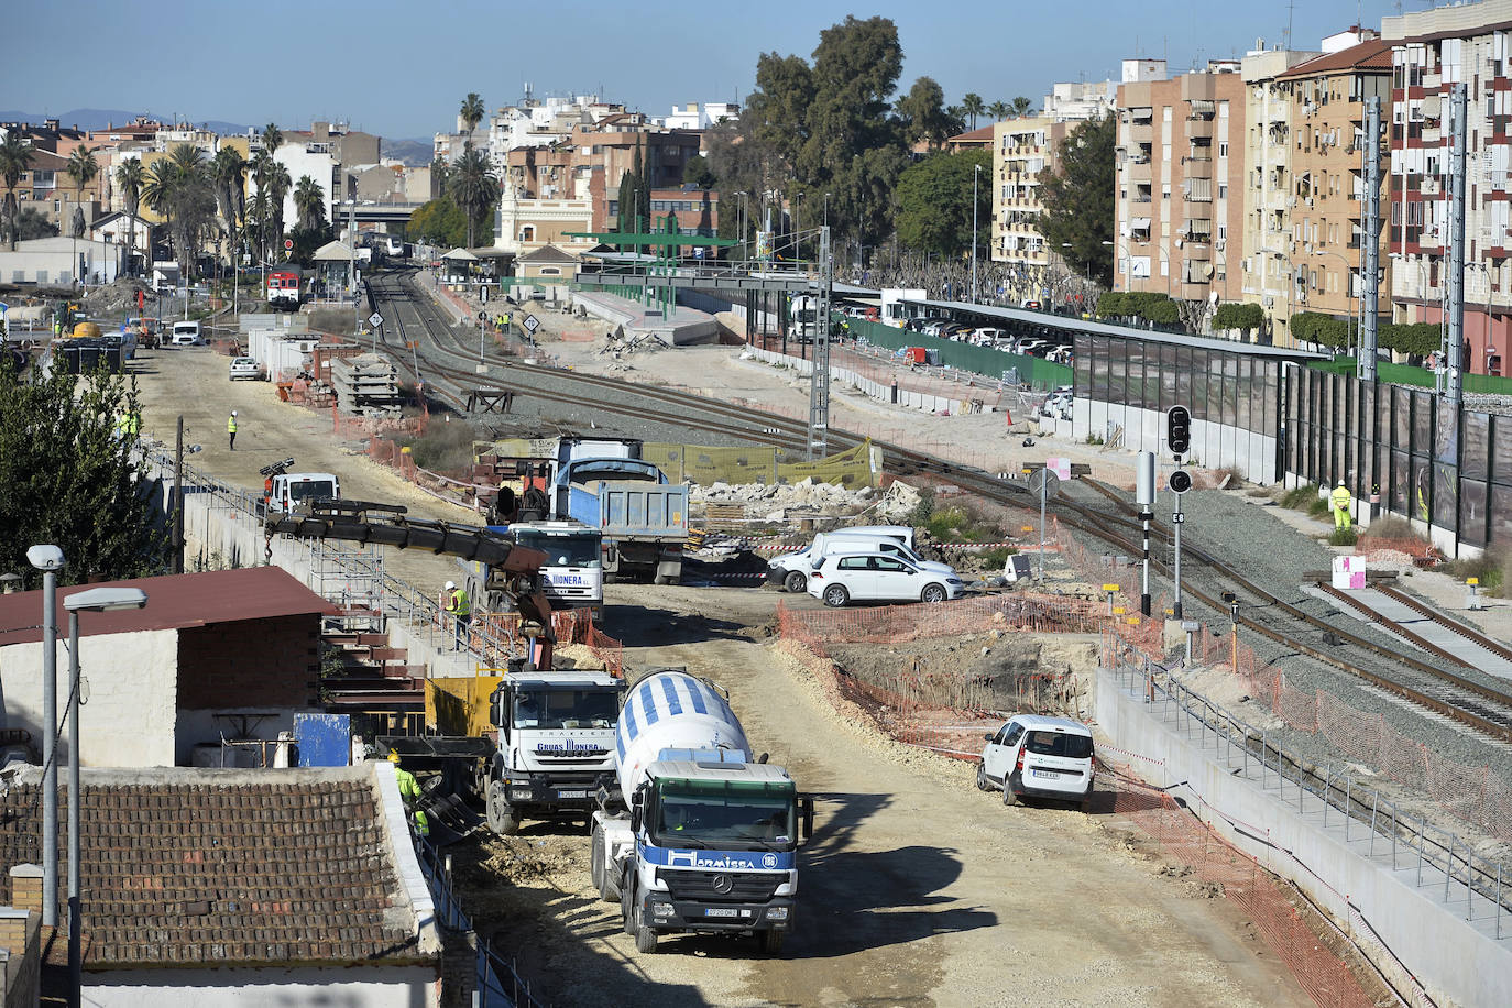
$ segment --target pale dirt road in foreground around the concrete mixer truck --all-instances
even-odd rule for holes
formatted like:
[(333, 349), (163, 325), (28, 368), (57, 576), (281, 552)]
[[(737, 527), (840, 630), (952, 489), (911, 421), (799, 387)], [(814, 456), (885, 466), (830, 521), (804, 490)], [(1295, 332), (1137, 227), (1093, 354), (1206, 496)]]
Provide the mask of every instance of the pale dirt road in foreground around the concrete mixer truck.
[[(640, 588), (611, 618), (638, 668), (686, 665), (818, 798), (782, 958), (751, 940), (638, 955), (597, 901), (587, 839), (528, 827), (457, 851), (475, 922), (573, 1005), (1305, 1005), (1231, 904), (1161, 877), (1098, 816), (1004, 809), (969, 765), (844, 721), (768, 647), (774, 595)], [(481, 863), (479, 860), (481, 858)]]

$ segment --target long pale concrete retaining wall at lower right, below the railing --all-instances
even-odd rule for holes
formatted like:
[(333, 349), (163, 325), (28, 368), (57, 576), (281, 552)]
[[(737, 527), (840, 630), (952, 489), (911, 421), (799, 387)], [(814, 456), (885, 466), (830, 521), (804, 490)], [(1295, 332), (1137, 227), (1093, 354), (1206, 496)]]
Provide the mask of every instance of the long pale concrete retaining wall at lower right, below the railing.
[[(1098, 673), (1096, 710), (1108, 741), (1140, 757), (1129, 760), (1137, 774), (1293, 881), (1346, 931), (1358, 913), (1438, 1003), (1512, 1003), (1512, 929), (1503, 926), (1507, 937), (1495, 938), (1495, 910), (1485, 899), (1467, 922), (1464, 883), (1450, 886), (1445, 902), (1442, 872), (1426, 866), (1418, 884), (1414, 855), (1393, 864), (1393, 845), (1377, 839), (1371, 848), (1368, 824), (1355, 822), (1346, 837), (1343, 815), (1332, 810), (1325, 824), (1321, 801), (1296, 798), (1296, 784), (1285, 786), (1281, 801), (1275, 768), (1261, 775), (1253, 757), (1243, 762), (1175, 704), (1146, 704), (1125, 692), (1108, 669)], [(1361, 948), (1367, 955), (1376, 949), (1373, 942)], [(1376, 964), (1400, 976), (1390, 958)]]

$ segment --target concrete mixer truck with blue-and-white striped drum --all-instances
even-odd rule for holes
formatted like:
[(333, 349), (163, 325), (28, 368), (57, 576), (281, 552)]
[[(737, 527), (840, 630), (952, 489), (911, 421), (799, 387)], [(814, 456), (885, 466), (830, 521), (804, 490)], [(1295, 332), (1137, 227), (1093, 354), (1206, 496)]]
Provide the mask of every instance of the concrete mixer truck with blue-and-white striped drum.
[(813, 799), (765, 754), (753, 759), (718, 688), (680, 668), (632, 686), (614, 734), (620, 795), (600, 792), (590, 873), (620, 901), (637, 951), (699, 931), (751, 932), (780, 952)]

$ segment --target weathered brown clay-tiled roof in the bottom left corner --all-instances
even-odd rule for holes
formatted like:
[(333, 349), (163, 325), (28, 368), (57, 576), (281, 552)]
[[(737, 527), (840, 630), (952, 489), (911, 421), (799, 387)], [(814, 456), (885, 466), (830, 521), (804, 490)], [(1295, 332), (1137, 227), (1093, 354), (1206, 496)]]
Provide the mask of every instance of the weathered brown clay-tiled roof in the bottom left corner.
[[(177, 774), (172, 783), (106, 786), (85, 775), (86, 967), (425, 958), (413, 913), (395, 898), (398, 873), (369, 778), (277, 771), (265, 784), (218, 784), (218, 774), (245, 772)], [(57, 815), (67, 816), (65, 795)], [(35, 783), (0, 798), (0, 860), (42, 861)], [(67, 848), (59, 872), (62, 898)], [(0, 872), (0, 904), (11, 895)]]

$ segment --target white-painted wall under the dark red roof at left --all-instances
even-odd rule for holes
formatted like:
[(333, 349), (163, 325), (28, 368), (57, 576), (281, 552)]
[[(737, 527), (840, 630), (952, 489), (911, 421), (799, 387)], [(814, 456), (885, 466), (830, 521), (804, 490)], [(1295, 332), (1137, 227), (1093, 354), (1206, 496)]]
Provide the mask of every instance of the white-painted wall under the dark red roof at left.
[[(60, 608), (59, 608), (60, 609)], [(80, 620), (88, 620), (82, 614)], [(57, 715), (68, 703), (67, 620), (57, 647)], [(79, 641), (86, 683), (79, 710), (85, 766), (172, 766), (178, 695), (178, 632), (148, 630), (85, 636)], [(26, 728), (42, 748), (42, 644), (0, 648), (0, 689), (6, 727)], [(65, 759), (68, 739), (59, 747)]]

